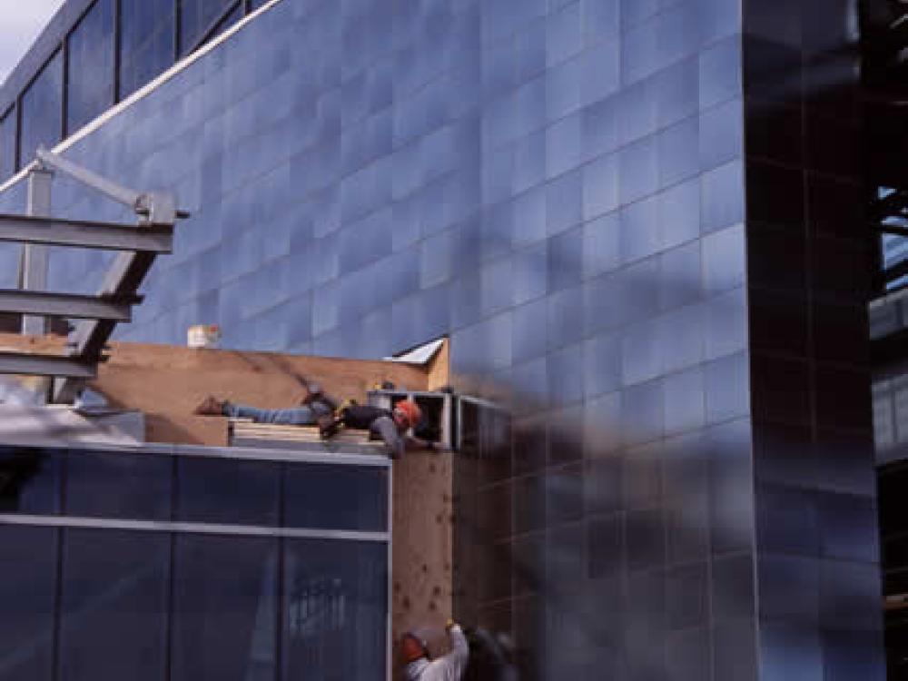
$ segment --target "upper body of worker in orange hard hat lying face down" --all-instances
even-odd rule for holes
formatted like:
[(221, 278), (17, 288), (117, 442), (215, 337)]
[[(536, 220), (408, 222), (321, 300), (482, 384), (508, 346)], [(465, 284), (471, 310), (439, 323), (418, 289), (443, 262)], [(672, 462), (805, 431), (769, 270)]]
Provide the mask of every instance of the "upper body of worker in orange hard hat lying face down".
[(331, 438), (341, 427), (369, 430), (372, 437), (384, 440), (391, 459), (400, 459), (408, 447), (435, 449), (434, 443), (407, 433), (419, 424), (420, 419), (422, 410), (416, 402), (410, 400), (400, 400), (393, 410), (368, 404), (352, 404), (342, 408), (337, 416), (320, 417), (319, 430), (324, 439)]

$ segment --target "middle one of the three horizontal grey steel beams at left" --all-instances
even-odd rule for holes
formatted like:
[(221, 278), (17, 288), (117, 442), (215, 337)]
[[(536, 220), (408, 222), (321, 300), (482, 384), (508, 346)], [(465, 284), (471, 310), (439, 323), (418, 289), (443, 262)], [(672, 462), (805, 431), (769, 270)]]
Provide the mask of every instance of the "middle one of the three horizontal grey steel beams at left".
[(104, 298), (72, 293), (0, 289), (0, 312), (74, 320), (132, 321), (132, 305), (138, 301), (140, 299), (137, 296)]

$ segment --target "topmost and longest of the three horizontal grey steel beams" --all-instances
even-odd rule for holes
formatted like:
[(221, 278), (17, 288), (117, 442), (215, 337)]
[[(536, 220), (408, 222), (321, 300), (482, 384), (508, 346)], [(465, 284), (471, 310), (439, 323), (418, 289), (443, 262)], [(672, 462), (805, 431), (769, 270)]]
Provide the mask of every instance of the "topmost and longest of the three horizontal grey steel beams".
[(0, 214), (0, 242), (44, 243), (102, 251), (173, 251), (173, 225), (136, 226)]

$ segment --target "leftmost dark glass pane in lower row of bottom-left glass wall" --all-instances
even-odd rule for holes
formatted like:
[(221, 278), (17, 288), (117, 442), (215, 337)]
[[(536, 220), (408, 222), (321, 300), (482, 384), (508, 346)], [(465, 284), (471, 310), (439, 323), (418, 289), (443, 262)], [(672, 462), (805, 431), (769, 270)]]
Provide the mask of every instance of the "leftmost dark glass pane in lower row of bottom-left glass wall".
[(50, 681), (57, 530), (0, 527), (0, 681)]

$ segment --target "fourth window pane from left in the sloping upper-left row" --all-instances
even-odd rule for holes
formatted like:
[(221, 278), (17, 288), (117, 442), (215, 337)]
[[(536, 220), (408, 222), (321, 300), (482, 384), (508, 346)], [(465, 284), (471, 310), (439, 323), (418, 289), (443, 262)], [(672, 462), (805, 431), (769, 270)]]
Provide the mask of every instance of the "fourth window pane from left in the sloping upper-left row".
[(173, 64), (173, 0), (121, 0), (120, 98)]

